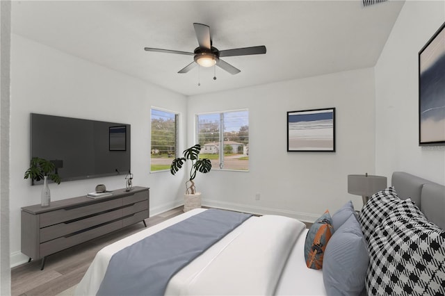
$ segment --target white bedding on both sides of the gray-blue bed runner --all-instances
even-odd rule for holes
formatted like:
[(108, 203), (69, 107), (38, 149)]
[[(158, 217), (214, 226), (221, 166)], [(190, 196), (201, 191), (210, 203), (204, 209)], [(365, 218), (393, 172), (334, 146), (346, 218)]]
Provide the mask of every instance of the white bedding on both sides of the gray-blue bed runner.
[[(74, 295), (97, 293), (115, 252), (202, 211), (188, 211), (104, 247)], [(175, 274), (165, 295), (272, 295), (275, 288), (277, 295), (325, 295), (321, 271), (305, 265), (306, 232), (305, 224), (291, 218), (251, 217)]]

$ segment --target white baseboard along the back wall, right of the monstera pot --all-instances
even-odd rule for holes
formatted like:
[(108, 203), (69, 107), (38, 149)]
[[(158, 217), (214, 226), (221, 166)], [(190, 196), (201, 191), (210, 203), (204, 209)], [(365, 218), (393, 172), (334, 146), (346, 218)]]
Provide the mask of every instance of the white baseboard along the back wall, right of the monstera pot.
[(233, 202), (220, 202), (213, 199), (202, 199), (203, 206), (211, 208), (223, 208), (225, 210), (232, 210), (238, 212), (252, 213), (257, 215), (282, 215), (298, 219), (302, 222), (314, 223), (319, 215), (311, 213), (301, 213), (296, 211), (282, 210), (280, 208), (266, 208), (262, 206), (252, 206), (250, 204), (237, 204)]

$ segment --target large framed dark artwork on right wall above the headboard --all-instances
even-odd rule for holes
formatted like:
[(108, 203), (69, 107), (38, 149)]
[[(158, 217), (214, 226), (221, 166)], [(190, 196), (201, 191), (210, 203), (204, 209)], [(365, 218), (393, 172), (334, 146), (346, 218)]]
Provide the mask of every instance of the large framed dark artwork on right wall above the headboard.
[(419, 51), (419, 145), (445, 145), (445, 23)]

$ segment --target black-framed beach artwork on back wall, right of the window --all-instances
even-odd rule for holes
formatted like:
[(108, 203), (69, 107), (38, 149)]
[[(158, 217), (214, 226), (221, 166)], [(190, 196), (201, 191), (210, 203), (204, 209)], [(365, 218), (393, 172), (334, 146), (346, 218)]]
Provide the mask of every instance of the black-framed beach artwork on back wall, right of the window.
[(335, 108), (287, 113), (287, 151), (335, 151)]

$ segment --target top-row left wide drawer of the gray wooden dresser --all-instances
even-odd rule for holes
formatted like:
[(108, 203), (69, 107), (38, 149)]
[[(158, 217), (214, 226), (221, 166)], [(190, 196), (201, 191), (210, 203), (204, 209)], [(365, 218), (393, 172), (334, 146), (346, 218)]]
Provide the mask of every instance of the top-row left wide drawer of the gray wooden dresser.
[(120, 206), (122, 206), (121, 198), (111, 199), (106, 202), (98, 202), (97, 204), (79, 206), (76, 208), (63, 208), (57, 211), (42, 213), (40, 215), (40, 227), (47, 227), (60, 222), (75, 220), (80, 217), (101, 213), (113, 208), (119, 208)]

